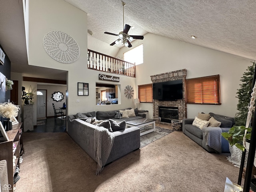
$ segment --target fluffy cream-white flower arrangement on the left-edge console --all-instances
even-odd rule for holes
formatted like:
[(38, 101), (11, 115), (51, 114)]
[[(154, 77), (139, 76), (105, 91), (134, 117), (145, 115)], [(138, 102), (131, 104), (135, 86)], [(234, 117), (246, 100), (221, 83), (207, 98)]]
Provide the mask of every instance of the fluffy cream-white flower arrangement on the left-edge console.
[(20, 110), (18, 105), (12, 103), (4, 102), (0, 103), (0, 116), (8, 119), (12, 119), (18, 116), (18, 111)]

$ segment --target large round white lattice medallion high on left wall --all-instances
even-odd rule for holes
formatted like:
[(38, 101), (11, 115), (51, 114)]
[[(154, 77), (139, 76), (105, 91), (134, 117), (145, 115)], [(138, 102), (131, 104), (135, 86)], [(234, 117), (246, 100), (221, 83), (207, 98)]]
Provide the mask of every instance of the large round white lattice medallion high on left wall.
[(43, 37), (46, 53), (60, 63), (73, 63), (80, 56), (80, 48), (70, 35), (61, 31), (50, 31)]

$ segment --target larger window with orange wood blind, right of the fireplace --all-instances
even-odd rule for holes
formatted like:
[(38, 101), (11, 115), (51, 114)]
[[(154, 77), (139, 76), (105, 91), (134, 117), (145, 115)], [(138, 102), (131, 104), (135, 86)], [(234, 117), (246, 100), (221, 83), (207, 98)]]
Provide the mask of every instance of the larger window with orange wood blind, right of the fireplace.
[(220, 105), (220, 76), (187, 79), (186, 103)]

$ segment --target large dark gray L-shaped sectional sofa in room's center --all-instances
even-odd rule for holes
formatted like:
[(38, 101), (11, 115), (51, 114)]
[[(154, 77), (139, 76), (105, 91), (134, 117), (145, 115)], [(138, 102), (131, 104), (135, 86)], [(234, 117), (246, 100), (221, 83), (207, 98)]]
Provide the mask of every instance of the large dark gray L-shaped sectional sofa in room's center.
[[(131, 108), (128, 108), (131, 109)], [(97, 111), (84, 113), (88, 117), (96, 117), (97, 120), (113, 119), (117, 121), (134, 120), (142, 118), (141, 116), (115, 119), (114, 115), (117, 110), (113, 111)], [(135, 110), (136, 112), (136, 110)], [(76, 118), (76, 115), (67, 116), (68, 128), (67, 132), (70, 137), (93, 159), (97, 162), (94, 149), (94, 131), (98, 126), (85, 122)], [(129, 127), (123, 130), (112, 132), (114, 134), (114, 142), (110, 155), (106, 164), (140, 148), (140, 129), (137, 127)]]

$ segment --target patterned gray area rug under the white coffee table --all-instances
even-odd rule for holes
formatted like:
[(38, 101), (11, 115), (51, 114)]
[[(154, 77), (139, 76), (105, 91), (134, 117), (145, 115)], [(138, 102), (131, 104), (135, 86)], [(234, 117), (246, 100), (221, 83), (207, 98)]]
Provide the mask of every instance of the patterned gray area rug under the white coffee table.
[(154, 142), (155, 140), (158, 140), (163, 136), (170, 134), (171, 132), (174, 132), (174, 130), (156, 127), (156, 131), (142, 135), (140, 137), (140, 148)]

